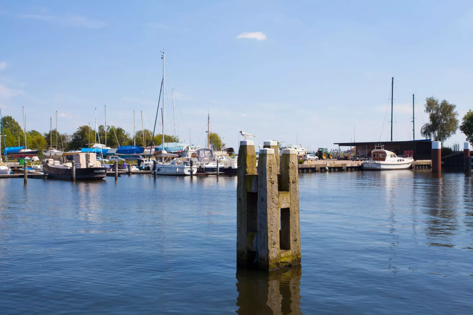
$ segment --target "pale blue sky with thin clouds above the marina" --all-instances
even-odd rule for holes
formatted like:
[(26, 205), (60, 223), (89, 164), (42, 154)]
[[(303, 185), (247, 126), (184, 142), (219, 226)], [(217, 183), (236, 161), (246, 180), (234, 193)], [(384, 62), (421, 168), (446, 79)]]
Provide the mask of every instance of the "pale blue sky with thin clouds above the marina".
[[(472, 108), (472, 1), (0, 1), (0, 106), (26, 129), (152, 128), (166, 51), (166, 133), (203, 145), (416, 139), (428, 96)], [(182, 115), (181, 115), (182, 114)], [(54, 118), (53, 118), (54, 119)], [(110, 123), (110, 119), (107, 119)], [(54, 124), (54, 122), (53, 122)], [(383, 127), (384, 124), (384, 127)], [(145, 126), (146, 128), (146, 126)], [(382, 131), (383, 130), (383, 131)], [(382, 132), (381, 132), (382, 131)], [(447, 140), (463, 142), (460, 131)]]

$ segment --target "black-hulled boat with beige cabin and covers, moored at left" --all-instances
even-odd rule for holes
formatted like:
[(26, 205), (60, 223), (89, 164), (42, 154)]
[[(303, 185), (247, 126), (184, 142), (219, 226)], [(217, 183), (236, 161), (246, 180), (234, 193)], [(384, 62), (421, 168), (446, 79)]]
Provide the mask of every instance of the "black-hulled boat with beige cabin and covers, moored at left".
[[(74, 153), (72, 155), (75, 166), (76, 179), (93, 180), (104, 179), (106, 176), (106, 167), (101, 167), (100, 161), (96, 160), (95, 153)], [(48, 178), (72, 178), (72, 163), (60, 164), (52, 158), (43, 162), (43, 172)]]

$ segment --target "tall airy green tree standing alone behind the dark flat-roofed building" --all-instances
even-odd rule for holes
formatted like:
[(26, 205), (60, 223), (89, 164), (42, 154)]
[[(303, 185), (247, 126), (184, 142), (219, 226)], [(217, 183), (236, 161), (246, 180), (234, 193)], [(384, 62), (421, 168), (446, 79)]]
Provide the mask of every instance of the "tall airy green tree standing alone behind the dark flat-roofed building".
[(458, 129), (458, 113), (456, 105), (443, 100), (438, 104), (438, 99), (430, 96), (425, 99), (425, 112), (429, 114), (429, 122), (420, 129), (420, 134), (434, 141), (444, 142)]

